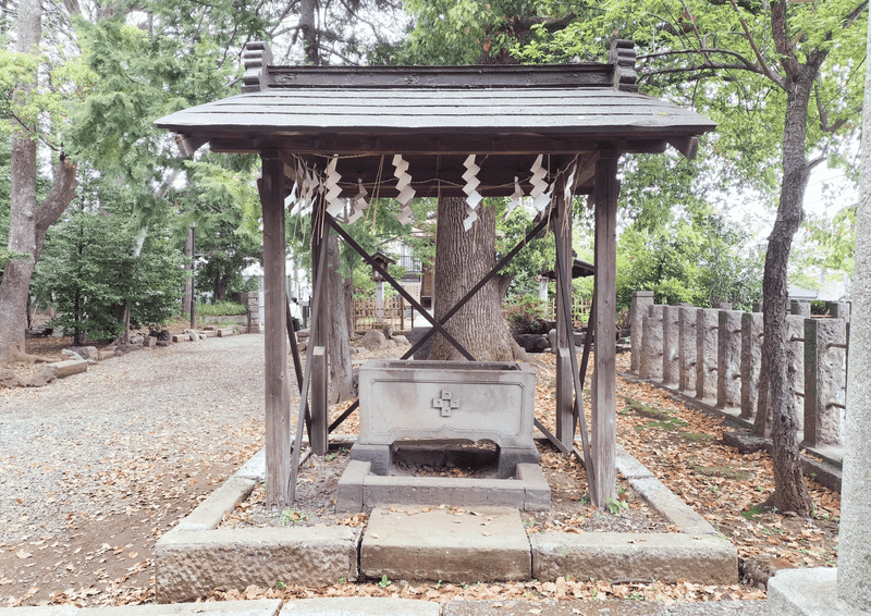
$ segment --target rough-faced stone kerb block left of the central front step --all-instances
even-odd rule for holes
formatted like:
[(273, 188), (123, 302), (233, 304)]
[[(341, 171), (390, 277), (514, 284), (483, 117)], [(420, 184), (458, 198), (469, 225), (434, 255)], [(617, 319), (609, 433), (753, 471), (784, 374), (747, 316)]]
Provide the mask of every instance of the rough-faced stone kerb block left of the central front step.
[(307, 587), (357, 579), (358, 529), (172, 530), (155, 545), (155, 599), (189, 601), (216, 588)]

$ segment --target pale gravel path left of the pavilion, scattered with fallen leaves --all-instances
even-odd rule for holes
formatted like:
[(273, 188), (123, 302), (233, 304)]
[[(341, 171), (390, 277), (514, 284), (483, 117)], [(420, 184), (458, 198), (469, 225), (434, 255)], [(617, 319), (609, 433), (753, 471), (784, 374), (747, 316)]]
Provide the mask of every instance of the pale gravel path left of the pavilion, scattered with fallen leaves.
[(0, 390), (0, 605), (36, 587), (26, 603), (147, 587), (154, 542), (262, 446), (262, 417), (256, 334)]

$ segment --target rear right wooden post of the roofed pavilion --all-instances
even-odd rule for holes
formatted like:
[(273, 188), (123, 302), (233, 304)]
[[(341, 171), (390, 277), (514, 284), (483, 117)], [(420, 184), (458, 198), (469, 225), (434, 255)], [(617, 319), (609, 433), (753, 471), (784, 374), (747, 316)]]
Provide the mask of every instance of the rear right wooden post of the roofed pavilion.
[[(555, 264), (556, 272), (556, 439), (569, 451), (575, 444), (574, 421), (574, 377), (572, 374), (571, 358), (566, 353), (575, 353), (575, 332), (572, 324), (572, 315), (566, 313), (565, 306), (560, 298), (561, 285), (568, 285), (568, 296), (572, 298), (572, 210), (571, 204), (565, 202), (562, 185), (554, 188), (556, 192), (556, 215), (553, 219), (554, 241), (560, 243), (563, 263)], [(559, 257), (557, 257), (559, 258)], [(564, 266), (564, 267), (563, 267)], [(568, 273), (563, 280), (562, 272)], [(571, 308), (569, 308), (571, 309)]]

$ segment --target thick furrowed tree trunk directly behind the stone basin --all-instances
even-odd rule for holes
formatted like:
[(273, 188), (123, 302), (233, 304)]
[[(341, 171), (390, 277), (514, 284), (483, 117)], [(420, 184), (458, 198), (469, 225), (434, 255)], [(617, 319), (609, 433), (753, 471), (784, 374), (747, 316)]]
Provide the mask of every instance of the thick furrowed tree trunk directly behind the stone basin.
[[(495, 210), (478, 206), (478, 220), (469, 231), (463, 227), (466, 199), (442, 197), (439, 200), (436, 232), (436, 319), (439, 320), (495, 263)], [(516, 344), (502, 317), (499, 281), (490, 280), (445, 324), (478, 361), (511, 361)], [(463, 359), (451, 343), (437, 334), (431, 359)]]

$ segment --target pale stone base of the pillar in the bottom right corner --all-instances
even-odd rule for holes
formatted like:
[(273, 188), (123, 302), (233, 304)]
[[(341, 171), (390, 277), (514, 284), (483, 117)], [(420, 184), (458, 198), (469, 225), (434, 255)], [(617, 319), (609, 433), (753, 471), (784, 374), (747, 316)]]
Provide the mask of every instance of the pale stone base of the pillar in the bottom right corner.
[(772, 616), (871, 616), (837, 597), (837, 569), (781, 569), (769, 580)]

